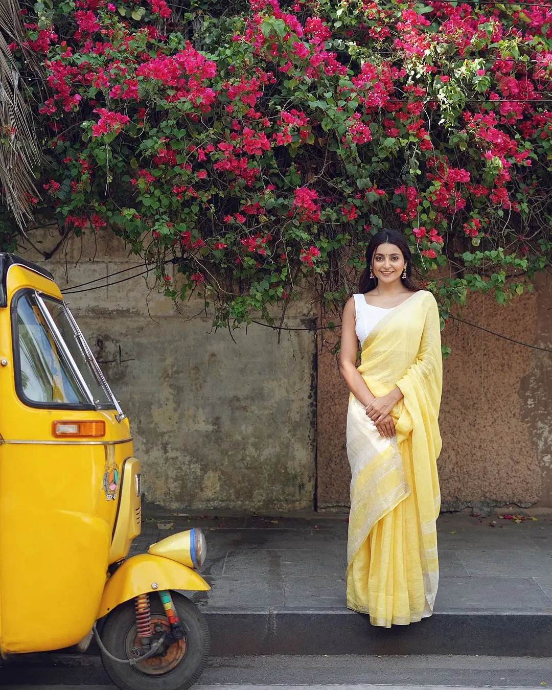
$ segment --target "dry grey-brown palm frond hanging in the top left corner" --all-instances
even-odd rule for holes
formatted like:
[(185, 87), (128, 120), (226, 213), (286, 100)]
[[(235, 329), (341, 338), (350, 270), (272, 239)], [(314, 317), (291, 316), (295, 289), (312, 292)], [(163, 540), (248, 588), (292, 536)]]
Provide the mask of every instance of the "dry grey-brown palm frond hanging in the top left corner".
[[(21, 18), (17, 0), (0, 0), (0, 183), (6, 206), (23, 230), (32, 218), (32, 198), (39, 197), (34, 168), (41, 153), (32, 111), (19, 88), (19, 72), (6, 36), (21, 42)], [(28, 63), (39, 70), (37, 57)]]

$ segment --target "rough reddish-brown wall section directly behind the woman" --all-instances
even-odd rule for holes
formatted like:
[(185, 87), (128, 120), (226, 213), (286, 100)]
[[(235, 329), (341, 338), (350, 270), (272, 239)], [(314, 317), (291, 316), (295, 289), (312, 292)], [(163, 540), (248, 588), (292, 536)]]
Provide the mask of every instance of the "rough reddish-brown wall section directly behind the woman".
[[(471, 298), (466, 321), (522, 342), (552, 348), (552, 279), (507, 307)], [(444, 508), (518, 504), (552, 507), (552, 354), (464, 324), (444, 342), (439, 471)], [(347, 390), (328, 351), (318, 354), (318, 503), (348, 504)]]

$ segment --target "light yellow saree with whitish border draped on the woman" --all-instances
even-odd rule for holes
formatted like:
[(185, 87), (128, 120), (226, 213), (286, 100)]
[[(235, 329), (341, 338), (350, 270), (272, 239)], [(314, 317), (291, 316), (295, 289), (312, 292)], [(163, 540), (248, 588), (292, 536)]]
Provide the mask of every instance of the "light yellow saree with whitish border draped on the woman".
[(376, 324), (358, 371), (375, 397), (395, 386), (404, 397), (391, 411), (393, 439), (382, 438), (364, 405), (349, 398), (347, 607), (369, 613), (374, 625), (406, 625), (433, 613), (439, 582), (442, 355), (431, 293), (414, 293)]

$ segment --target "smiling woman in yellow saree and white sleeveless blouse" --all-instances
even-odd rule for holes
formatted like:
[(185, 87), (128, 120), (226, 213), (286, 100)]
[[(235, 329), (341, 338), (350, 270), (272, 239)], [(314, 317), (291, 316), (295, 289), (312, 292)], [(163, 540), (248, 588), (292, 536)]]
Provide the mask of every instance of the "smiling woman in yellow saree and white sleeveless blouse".
[(344, 308), (339, 358), (351, 391), (347, 607), (386, 628), (431, 615), (439, 580), (440, 317), (411, 275), (403, 235), (377, 233)]

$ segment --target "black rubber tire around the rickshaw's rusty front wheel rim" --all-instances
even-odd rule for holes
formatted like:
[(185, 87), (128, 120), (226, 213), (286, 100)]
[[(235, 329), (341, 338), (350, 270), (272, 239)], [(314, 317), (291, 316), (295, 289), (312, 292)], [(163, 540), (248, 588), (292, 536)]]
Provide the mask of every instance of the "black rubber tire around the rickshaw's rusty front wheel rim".
[[(171, 591), (180, 622), (186, 632), (186, 653), (174, 669), (163, 675), (150, 676), (129, 664), (120, 664), (101, 654), (106, 673), (121, 690), (188, 690), (204, 672), (210, 651), (209, 629), (204, 615), (187, 597)], [(152, 615), (164, 614), (159, 596), (150, 593)], [(134, 601), (120, 604), (107, 617), (101, 634), (106, 649), (119, 659), (128, 658), (125, 644), (128, 632), (135, 625)]]

